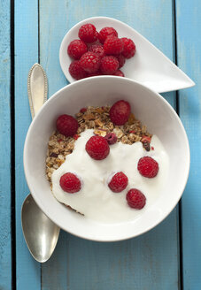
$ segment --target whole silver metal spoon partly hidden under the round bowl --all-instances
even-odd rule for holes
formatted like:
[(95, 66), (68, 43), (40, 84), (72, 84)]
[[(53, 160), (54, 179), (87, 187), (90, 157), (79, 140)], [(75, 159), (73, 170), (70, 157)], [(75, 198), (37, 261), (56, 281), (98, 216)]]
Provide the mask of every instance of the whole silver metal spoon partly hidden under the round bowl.
[[(27, 80), (28, 99), (32, 118), (47, 100), (47, 77), (39, 64), (32, 66)], [(37, 206), (32, 195), (27, 198), (21, 208), (22, 230), (27, 248), (36, 261), (46, 262), (52, 255), (60, 228)]]

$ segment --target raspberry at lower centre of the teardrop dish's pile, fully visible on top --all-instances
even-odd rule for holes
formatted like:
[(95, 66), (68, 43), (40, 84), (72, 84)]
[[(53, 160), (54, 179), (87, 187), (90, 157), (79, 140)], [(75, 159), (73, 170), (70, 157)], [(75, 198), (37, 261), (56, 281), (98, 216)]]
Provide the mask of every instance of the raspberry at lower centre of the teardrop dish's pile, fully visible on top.
[(85, 72), (97, 72), (100, 66), (100, 58), (94, 52), (86, 52), (81, 56), (80, 64)]

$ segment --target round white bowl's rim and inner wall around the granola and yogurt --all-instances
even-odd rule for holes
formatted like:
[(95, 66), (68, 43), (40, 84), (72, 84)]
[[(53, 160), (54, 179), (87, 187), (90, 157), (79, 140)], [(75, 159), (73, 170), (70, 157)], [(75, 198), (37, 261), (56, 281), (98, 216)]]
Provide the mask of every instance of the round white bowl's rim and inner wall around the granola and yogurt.
[[(156, 202), (132, 221), (105, 225), (67, 210), (54, 198), (45, 176), (45, 156), (60, 114), (73, 115), (87, 105), (102, 106), (120, 99), (127, 100), (135, 117), (162, 141), (170, 158), (170, 170)], [(180, 118), (161, 95), (127, 78), (94, 77), (60, 89), (43, 105), (27, 132), (24, 169), (35, 202), (66, 232), (89, 240), (125, 240), (151, 230), (174, 209), (189, 175), (189, 142)]]

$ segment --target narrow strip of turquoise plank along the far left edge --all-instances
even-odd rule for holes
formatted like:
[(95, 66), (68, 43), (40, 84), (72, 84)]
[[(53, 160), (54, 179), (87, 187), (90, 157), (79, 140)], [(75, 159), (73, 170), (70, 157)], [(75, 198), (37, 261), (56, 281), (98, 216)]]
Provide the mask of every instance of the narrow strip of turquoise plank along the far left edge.
[[(0, 0), (0, 289), (12, 288), (10, 3)], [(6, 182), (5, 182), (6, 180)]]

